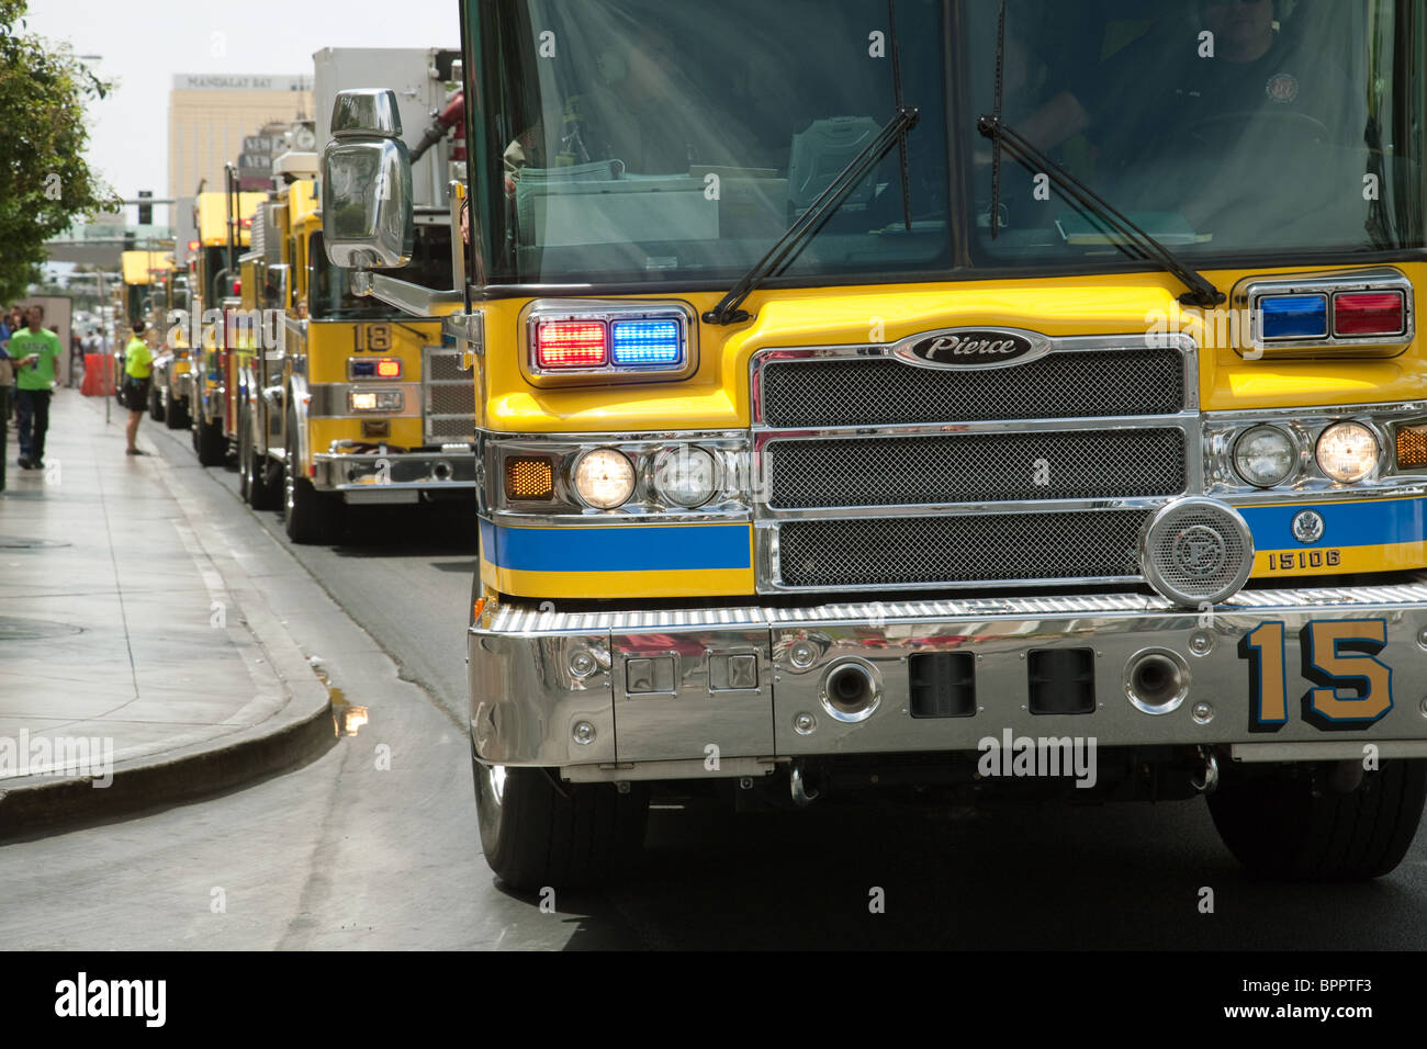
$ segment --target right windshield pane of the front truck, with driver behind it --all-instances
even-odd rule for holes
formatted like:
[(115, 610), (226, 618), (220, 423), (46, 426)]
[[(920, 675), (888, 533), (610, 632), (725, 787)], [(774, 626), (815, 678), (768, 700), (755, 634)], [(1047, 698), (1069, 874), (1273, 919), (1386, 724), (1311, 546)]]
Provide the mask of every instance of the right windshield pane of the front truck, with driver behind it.
[[(1193, 257), (1421, 244), (1420, 14), (1361, 0), (1007, 0), (1002, 116)], [(997, 6), (969, 7), (970, 108), (995, 107)], [(968, 127), (983, 264), (1114, 251)]]

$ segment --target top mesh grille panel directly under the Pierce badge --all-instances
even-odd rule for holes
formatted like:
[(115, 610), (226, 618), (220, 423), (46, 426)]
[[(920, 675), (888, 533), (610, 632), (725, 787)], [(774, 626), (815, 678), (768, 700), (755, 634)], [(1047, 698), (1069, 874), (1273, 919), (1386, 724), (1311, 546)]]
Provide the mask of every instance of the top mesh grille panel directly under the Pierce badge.
[(771, 427), (1173, 415), (1186, 407), (1179, 348), (1070, 350), (986, 370), (918, 368), (882, 357), (769, 361), (759, 418)]

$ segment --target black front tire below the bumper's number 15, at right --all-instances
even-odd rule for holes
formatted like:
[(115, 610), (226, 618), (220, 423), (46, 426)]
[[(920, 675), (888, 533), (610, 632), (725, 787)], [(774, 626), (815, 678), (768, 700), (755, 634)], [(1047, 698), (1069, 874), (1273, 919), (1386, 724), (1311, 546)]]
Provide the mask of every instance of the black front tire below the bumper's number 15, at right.
[(1356, 789), (1351, 765), (1230, 768), (1209, 795), (1219, 836), (1249, 871), (1280, 881), (1359, 882), (1396, 868), (1427, 801), (1427, 759), (1384, 761)]

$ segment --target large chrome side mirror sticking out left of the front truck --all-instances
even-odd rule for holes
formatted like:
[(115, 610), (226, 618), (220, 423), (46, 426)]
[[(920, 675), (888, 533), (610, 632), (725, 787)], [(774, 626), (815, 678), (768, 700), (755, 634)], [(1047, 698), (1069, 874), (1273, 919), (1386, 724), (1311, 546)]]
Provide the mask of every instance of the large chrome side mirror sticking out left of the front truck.
[(415, 243), (411, 156), (391, 90), (340, 91), (323, 150), (323, 244), (332, 265), (405, 265)]

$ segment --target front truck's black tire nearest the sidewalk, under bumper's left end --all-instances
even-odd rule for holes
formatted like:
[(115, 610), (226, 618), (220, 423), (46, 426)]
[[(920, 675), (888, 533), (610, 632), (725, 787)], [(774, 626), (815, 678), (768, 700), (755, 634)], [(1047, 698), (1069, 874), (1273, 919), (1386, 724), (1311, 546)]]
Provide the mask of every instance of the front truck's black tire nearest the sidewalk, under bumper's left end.
[(605, 885), (644, 849), (648, 784), (562, 784), (554, 769), (471, 758), (485, 862), (512, 889)]

